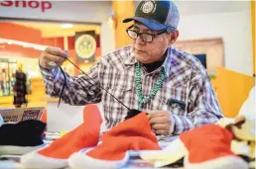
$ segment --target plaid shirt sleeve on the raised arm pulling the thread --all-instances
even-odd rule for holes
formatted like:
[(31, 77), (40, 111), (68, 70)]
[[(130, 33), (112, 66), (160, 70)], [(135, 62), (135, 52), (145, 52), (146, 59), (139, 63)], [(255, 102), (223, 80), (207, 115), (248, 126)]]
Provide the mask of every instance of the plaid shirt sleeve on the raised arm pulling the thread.
[(62, 71), (60, 67), (52, 70), (40, 67), (47, 93), (51, 97), (60, 97), (64, 86), (61, 97), (64, 103), (69, 105), (86, 105), (100, 102), (102, 95), (99, 86), (100, 68), (101, 62), (98, 61), (87, 74), (70, 76)]

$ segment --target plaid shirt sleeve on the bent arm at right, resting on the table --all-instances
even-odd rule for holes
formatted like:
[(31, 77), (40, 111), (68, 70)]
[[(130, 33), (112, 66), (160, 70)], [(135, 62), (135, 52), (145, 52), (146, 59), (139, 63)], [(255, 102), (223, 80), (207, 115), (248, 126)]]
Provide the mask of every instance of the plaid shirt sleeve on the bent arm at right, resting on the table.
[(180, 134), (194, 127), (216, 123), (223, 117), (210, 79), (204, 69), (194, 73), (189, 94), (188, 115), (172, 114), (173, 123), (175, 123), (174, 134)]

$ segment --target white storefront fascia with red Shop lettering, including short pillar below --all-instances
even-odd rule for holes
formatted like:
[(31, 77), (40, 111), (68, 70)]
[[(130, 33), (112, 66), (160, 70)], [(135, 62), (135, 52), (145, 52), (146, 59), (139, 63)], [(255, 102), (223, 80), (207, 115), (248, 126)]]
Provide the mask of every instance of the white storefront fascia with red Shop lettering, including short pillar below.
[(0, 18), (4, 18), (4, 21), (11, 22), (14, 18), (15, 20), (28, 19), (29, 21), (35, 20), (38, 22), (62, 21), (66, 24), (77, 22), (99, 25), (101, 27), (100, 48), (102, 55), (115, 49), (114, 30), (108, 25), (111, 10), (112, 1), (110, 0), (0, 0)]

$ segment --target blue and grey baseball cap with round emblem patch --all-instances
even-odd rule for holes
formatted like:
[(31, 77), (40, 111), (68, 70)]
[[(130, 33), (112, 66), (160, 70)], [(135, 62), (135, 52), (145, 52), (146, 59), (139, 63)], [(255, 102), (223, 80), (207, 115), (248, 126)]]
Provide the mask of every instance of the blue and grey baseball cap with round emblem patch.
[(153, 31), (172, 32), (177, 29), (179, 20), (179, 10), (172, 1), (146, 0), (139, 3), (134, 17), (123, 20), (123, 23), (137, 21)]

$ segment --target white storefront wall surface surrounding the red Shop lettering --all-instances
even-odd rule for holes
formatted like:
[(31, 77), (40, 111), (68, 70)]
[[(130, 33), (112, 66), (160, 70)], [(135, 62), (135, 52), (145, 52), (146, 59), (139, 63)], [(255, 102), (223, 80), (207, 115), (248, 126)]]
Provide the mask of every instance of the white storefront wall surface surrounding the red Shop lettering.
[(0, 6), (0, 17), (100, 23), (102, 54), (107, 54), (115, 48), (114, 32), (107, 25), (111, 13), (111, 1), (51, 1), (51, 3), (52, 8), (45, 12), (40, 8)]

